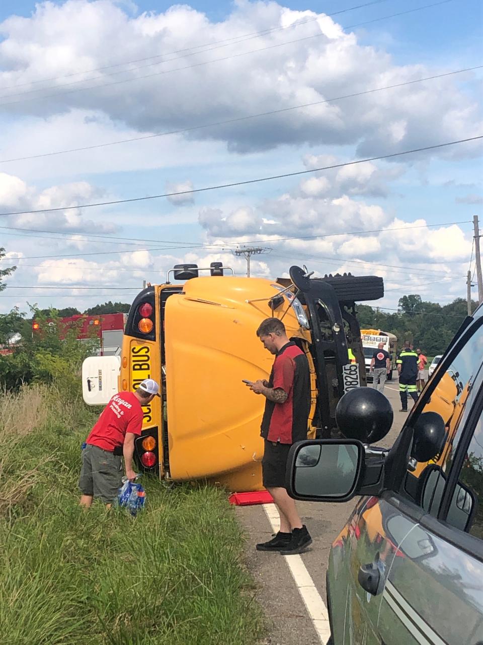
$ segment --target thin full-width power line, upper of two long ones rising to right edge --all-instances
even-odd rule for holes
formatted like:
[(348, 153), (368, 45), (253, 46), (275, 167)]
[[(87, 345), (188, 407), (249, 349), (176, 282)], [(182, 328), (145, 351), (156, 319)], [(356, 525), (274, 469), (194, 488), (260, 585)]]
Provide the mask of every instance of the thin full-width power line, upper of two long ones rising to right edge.
[(325, 103), (333, 103), (334, 101), (342, 101), (343, 99), (352, 99), (358, 96), (364, 96), (366, 94), (374, 94), (374, 92), (383, 92), (384, 90), (393, 90), (395, 88), (404, 87), (406, 85), (413, 85), (415, 83), (422, 83), (424, 81), (433, 81), (434, 79), (440, 79), (445, 76), (452, 76), (456, 74), (463, 74), (464, 72), (473, 72), (474, 70), (479, 70), (483, 65), (477, 65), (474, 67), (468, 67), (460, 70), (454, 70), (453, 72), (445, 72), (444, 74), (435, 74), (433, 76), (426, 76), (421, 79), (414, 79), (413, 81), (404, 81), (403, 83), (395, 83), (393, 85), (386, 85), (379, 88), (373, 88), (371, 90), (364, 90), (363, 92), (353, 92), (352, 94), (345, 94), (342, 96), (336, 96), (332, 99), (323, 99), (323, 101), (314, 101), (312, 103), (303, 103), (301, 105), (294, 105), (288, 108), (279, 108), (278, 110), (269, 110), (268, 112), (259, 112), (258, 114), (250, 114), (245, 117), (236, 117), (234, 119), (225, 119), (224, 121), (214, 121), (213, 123), (205, 123), (202, 125), (190, 126), (189, 128), (178, 128), (178, 130), (167, 130), (166, 132), (156, 132), (155, 134), (147, 134), (141, 137), (131, 137), (131, 139), (118, 139), (117, 141), (108, 141), (106, 143), (99, 143), (92, 146), (81, 146), (80, 148), (69, 148), (68, 150), (56, 150), (54, 152), (44, 152), (38, 155), (28, 155), (26, 157), (15, 157), (13, 159), (0, 159), (0, 163), (10, 163), (12, 161), (26, 161), (27, 159), (39, 159), (40, 157), (52, 157), (54, 155), (68, 154), (70, 152), (81, 152), (83, 150), (95, 150), (97, 148), (106, 148), (107, 146), (115, 146), (122, 143), (132, 143), (133, 141), (144, 141), (145, 139), (155, 139), (156, 137), (166, 137), (173, 134), (182, 134), (184, 132), (193, 132), (194, 130), (203, 130), (205, 128), (214, 128), (220, 125), (227, 125), (231, 123), (240, 123), (242, 121), (249, 121), (250, 119), (257, 119), (259, 117), (270, 116), (274, 114), (282, 114), (283, 112), (290, 112), (292, 110), (300, 110), (302, 108), (310, 108), (316, 105), (322, 105)]

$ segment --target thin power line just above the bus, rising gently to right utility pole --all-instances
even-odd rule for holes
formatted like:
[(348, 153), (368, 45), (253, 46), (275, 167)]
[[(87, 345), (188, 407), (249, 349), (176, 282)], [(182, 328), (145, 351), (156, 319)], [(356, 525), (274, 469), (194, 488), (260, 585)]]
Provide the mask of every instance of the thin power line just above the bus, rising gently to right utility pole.
[[(377, 228), (373, 229), (370, 231), (352, 231), (352, 232), (343, 232), (343, 233), (324, 233), (321, 235), (296, 235), (294, 237), (278, 237), (278, 238), (264, 238), (264, 239), (258, 239), (258, 240), (253, 240), (253, 241), (243, 241), (243, 242), (225, 242), (225, 243), (220, 243), (220, 244), (199, 244), (198, 246), (161, 246), (161, 247), (155, 247), (155, 248), (140, 248), (140, 249), (135, 249), (133, 251), (129, 250), (118, 250), (118, 251), (99, 251), (99, 252), (90, 252), (90, 253), (66, 253), (64, 255), (30, 255), (30, 256), (21, 256), (17, 259), (26, 259), (26, 260), (32, 260), (32, 259), (38, 259), (38, 258), (43, 258), (43, 257), (75, 257), (75, 256), (82, 256), (84, 257), (85, 255), (113, 255), (115, 253), (136, 253), (136, 252), (141, 252), (141, 251), (171, 251), (171, 250), (179, 250), (179, 249), (184, 249), (184, 248), (189, 248), (189, 249), (203, 249), (207, 251), (219, 251), (219, 252), (231, 252), (231, 248), (227, 248), (229, 246), (233, 245), (239, 245), (239, 244), (259, 244), (262, 242), (287, 242), (287, 241), (292, 241), (292, 240), (304, 240), (304, 239), (317, 239), (317, 238), (326, 238), (326, 237), (340, 237), (341, 235), (367, 235), (369, 233), (385, 233), (389, 231), (408, 231), (408, 230), (413, 230), (416, 228), (435, 228), (435, 226), (453, 226), (453, 224), (470, 224), (471, 222), (468, 220), (462, 220), (459, 222), (440, 222), (437, 224), (417, 224), (415, 226), (394, 226), (392, 228)], [(8, 260), (8, 262), (13, 262), (15, 261), (14, 257), (8, 257), (4, 258), (4, 261)]]

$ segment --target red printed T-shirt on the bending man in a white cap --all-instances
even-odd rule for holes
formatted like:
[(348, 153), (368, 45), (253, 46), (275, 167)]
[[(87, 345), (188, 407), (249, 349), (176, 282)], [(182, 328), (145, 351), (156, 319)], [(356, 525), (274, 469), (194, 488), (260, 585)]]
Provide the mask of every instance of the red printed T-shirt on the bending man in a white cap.
[(137, 396), (133, 392), (119, 392), (102, 411), (86, 443), (113, 452), (124, 444), (126, 432), (140, 435), (141, 428), (142, 408)]

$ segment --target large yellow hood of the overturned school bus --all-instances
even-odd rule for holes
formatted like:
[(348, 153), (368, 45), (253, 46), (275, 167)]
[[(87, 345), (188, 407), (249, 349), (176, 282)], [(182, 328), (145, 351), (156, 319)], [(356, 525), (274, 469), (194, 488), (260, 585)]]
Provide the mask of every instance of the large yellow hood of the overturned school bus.
[[(265, 398), (242, 379), (268, 379), (274, 356), (256, 337), (271, 315), (268, 280), (200, 277), (171, 295), (165, 310), (169, 468), (176, 481), (206, 478), (237, 491), (260, 490)], [(247, 300), (265, 301), (247, 303)], [(287, 335), (308, 338), (284, 304)], [(287, 311), (288, 308), (288, 311)], [(311, 370), (314, 372), (310, 355)], [(153, 378), (156, 376), (153, 374)], [(316, 392), (312, 373), (312, 412)]]

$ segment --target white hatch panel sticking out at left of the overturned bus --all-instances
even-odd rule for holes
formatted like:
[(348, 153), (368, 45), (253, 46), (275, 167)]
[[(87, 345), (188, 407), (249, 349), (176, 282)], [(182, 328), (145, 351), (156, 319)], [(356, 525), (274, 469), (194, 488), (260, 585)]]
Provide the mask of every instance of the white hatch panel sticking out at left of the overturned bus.
[(88, 405), (106, 405), (118, 392), (120, 356), (90, 356), (82, 363), (82, 398)]

